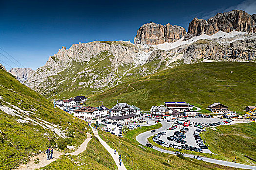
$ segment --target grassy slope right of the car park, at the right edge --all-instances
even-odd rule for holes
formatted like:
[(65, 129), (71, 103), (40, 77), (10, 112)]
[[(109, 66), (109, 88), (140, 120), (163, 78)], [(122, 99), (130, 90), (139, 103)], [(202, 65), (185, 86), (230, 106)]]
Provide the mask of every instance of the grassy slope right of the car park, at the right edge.
[(231, 161), (236, 157), (236, 162), (256, 165), (255, 161), (244, 157), (256, 160), (256, 123), (208, 128), (201, 136), (210, 145), (210, 150), (223, 159)]

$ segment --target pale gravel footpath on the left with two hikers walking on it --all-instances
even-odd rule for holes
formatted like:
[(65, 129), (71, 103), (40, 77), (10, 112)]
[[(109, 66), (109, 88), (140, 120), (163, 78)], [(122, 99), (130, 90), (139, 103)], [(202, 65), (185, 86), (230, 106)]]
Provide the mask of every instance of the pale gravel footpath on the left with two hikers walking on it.
[[(85, 141), (81, 144), (81, 146), (73, 153), (66, 153), (65, 155), (69, 155), (69, 154), (78, 155), (79, 153), (82, 153), (83, 151), (85, 151), (89, 141), (91, 140), (91, 136), (92, 136), (91, 134), (87, 133), (87, 139), (85, 139)], [(31, 158), (27, 164), (21, 165), (17, 170), (34, 170), (36, 168), (45, 167), (46, 165), (49, 165), (53, 161), (57, 160), (61, 155), (63, 155), (63, 153), (59, 151), (54, 151), (53, 158), (50, 160), (46, 160), (46, 156), (47, 156), (46, 153), (40, 153), (39, 155)], [(35, 160), (37, 158), (39, 159), (39, 163), (35, 164)]]

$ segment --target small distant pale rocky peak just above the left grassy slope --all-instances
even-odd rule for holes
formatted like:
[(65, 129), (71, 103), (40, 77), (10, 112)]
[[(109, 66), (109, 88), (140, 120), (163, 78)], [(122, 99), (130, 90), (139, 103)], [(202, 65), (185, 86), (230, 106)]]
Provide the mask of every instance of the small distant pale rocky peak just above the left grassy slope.
[(12, 68), (8, 72), (14, 75), (21, 83), (24, 83), (35, 71), (31, 68)]

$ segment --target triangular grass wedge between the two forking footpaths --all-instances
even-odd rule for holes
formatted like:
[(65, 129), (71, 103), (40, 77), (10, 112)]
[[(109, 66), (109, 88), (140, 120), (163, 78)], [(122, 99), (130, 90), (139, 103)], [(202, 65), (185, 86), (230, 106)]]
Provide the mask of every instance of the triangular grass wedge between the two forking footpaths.
[(75, 156), (61, 156), (60, 159), (41, 168), (42, 170), (117, 170), (113, 158), (95, 136), (86, 150)]

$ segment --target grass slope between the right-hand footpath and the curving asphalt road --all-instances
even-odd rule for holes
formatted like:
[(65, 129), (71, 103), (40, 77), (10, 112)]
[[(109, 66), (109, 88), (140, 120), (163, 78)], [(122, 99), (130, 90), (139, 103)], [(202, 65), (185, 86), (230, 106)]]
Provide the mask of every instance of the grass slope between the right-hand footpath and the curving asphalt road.
[[(152, 126), (158, 128), (159, 124)], [(141, 146), (135, 139), (135, 134), (142, 133), (152, 127), (141, 127), (130, 130), (119, 138), (110, 133), (98, 130), (99, 136), (112, 149), (118, 149), (123, 163), (128, 170), (233, 170), (234, 168), (211, 164), (186, 157), (177, 157), (161, 153), (151, 148)], [(132, 132), (135, 131), (135, 132)]]

